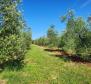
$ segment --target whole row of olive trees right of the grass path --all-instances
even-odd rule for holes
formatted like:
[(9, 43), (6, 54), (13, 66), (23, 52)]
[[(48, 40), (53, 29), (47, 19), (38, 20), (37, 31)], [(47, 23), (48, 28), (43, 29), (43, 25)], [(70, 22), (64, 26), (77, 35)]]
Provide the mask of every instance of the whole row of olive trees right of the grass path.
[(52, 25), (47, 31), (47, 36), (40, 37), (33, 43), (39, 46), (60, 48), (91, 61), (91, 16), (86, 21), (82, 17), (76, 17), (73, 10), (69, 10), (60, 20), (66, 24), (63, 33), (59, 34)]

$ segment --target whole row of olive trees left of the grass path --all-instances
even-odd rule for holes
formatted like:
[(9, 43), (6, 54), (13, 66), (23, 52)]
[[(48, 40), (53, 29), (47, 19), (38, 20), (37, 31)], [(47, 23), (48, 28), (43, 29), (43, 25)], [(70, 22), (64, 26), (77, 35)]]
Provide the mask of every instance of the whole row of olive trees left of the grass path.
[(18, 8), (20, 2), (0, 0), (0, 66), (8, 63), (11, 66), (22, 64), (30, 45), (30, 32), (23, 32), (24, 21)]

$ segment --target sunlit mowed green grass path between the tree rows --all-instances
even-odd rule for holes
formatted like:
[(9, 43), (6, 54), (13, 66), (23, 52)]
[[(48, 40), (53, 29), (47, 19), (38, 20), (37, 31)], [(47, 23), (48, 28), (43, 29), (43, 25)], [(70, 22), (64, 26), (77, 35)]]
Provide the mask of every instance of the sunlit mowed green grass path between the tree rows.
[[(19, 71), (5, 70), (0, 81), (5, 84), (91, 84), (91, 67), (52, 56), (32, 45)], [(3, 84), (3, 83), (0, 83)]]

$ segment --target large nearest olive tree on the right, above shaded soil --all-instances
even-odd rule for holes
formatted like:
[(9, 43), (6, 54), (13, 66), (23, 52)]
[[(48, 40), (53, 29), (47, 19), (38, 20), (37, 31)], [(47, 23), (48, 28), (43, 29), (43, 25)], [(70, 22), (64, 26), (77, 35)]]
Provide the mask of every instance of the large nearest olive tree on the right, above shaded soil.
[(61, 37), (62, 47), (71, 54), (91, 60), (91, 31), (81, 17), (70, 16), (69, 12), (67, 15), (66, 19), (63, 18), (67, 24)]

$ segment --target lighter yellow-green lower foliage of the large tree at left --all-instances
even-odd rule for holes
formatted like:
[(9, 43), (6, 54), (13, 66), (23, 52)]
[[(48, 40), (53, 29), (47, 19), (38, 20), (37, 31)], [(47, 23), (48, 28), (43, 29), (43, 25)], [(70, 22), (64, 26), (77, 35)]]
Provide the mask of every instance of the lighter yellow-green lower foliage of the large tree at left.
[(0, 38), (0, 64), (8, 61), (22, 61), (24, 59), (25, 48), (23, 39), (16, 35)]

